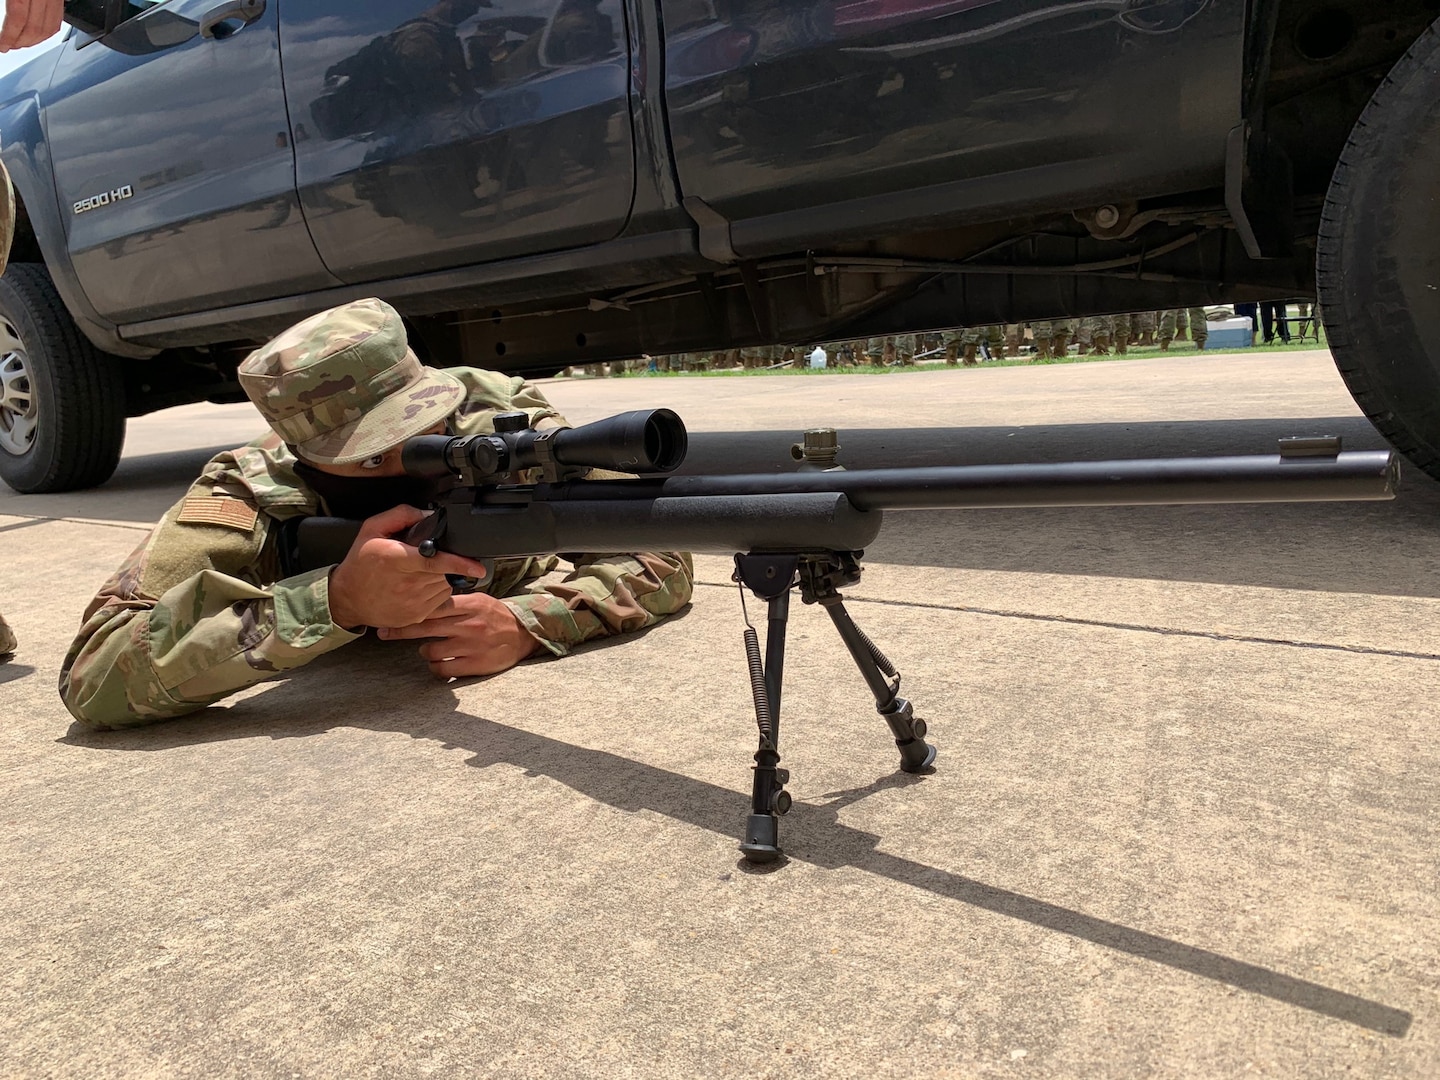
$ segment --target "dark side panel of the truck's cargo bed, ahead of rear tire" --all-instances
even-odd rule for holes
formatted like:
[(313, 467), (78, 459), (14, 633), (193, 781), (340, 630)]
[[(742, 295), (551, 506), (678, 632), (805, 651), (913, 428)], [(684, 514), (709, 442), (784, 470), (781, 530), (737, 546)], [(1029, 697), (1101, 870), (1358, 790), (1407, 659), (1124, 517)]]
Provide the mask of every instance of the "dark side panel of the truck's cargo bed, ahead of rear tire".
[(730, 219), (742, 255), (890, 219), (1218, 183), (1241, 115), (1240, 3), (660, 7), (680, 184)]

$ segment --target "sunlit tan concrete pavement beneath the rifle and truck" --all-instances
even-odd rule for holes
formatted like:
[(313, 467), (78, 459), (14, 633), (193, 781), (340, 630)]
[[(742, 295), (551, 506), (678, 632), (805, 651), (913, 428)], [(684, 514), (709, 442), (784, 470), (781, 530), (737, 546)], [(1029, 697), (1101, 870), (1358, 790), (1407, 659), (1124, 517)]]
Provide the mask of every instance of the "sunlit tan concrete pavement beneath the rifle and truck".
[[(1323, 353), (546, 390), (573, 422), (675, 408), (707, 471), (816, 423), (852, 468), (1381, 445)], [(684, 615), (495, 678), (364, 641), (194, 719), (72, 729), (85, 602), (256, 426), (158, 413), (105, 488), (0, 491), (4, 1074), (1440, 1071), (1414, 469), (1387, 504), (893, 514), (850, 609), (937, 772), (894, 770), (796, 606), (789, 861), (755, 871), (719, 557)]]

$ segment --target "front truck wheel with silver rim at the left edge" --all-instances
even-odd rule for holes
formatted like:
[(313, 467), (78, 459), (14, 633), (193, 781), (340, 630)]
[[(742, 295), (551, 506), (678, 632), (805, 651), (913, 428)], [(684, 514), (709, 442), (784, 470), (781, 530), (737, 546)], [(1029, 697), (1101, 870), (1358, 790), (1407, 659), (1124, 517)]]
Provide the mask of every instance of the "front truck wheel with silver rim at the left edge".
[(125, 441), (125, 382), (33, 262), (0, 278), (0, 478), (22, 494), (104, 484)]

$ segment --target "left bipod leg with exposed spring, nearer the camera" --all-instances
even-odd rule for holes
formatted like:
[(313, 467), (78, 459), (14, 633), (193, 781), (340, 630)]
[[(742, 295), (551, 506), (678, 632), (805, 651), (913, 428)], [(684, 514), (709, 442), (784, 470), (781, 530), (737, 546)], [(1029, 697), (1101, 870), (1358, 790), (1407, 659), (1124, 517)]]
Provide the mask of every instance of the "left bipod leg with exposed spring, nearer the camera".
[(746, 619), (744, 651), (750, 667), (750, 693), (755, 696), (755, 719), (760, 729), (760, 746), (755, 752), (755, 780), (750, 792), (750, 816), (744, 822), (740, 851), (750, 863), (773, 863), (780, 857), (780, 816), (791, 808), (791, 793), (785, 791), (791, 775), (780, 769), (780, 685), (785, 678), (785, 631), (791, 616), (791, 589), (795, 583), (798, 556), (737, 554), (734, 579), (769, 602), (769, 624), (765, 634), (765, 662), (755, 628)]

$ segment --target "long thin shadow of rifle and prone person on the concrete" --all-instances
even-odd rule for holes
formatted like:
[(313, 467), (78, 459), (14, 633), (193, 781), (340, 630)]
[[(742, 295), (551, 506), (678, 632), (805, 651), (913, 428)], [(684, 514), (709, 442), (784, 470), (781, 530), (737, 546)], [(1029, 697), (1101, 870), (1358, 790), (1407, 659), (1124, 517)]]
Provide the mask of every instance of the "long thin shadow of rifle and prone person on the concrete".
[[(161, 752), (233, 739), (308, 737), (331, 727), (399, 732), (467, 750), (474, 755), (467, 765), (478, 769), (511, 765), (621, 811), (647, 809), (719, 835), (739, 834), (747, 809), (746, 795), (605, 750), (455, 711), (456, 698), (449, 685), (415, 677), (408, 651), (403, 657), (406, 667), (402, 668), (399, 652), (390, 649), (386, 654), (383, 648), (376, 642), (363, 649), (366, 662), (346, 665), (347, 684), (354, 691), (350, 700), (336, 700), (333, 680), (288, 678), (226, 710), (206, 710), (140, 732), (96, 733), (72, 726), (59, 742), (94, 750)], [(331, 657), (323, 658), (315, 667), (331, 661)], [(364, 708), (356, 707), (359, 701), (364, 703)], [(416, 714), (425, 719), (412, 720)], [(916, 782), (923, 780), (904, 775), (884, 776), (863, 788), (831, 792), (822, 796), (827, 799), (824, 804), (796, 802), (785, 818), (788, 858), (825, 870), (855, 867), (1371, 1031), (1404, 1035), (1410, 1030), (1413, 1015), (1404, 1009), (891, 855), (880, 851), (883, 837), (840, 822), (841, 808), (874, 792)], [(775, 871), (765, 868), (765, 873)]]

